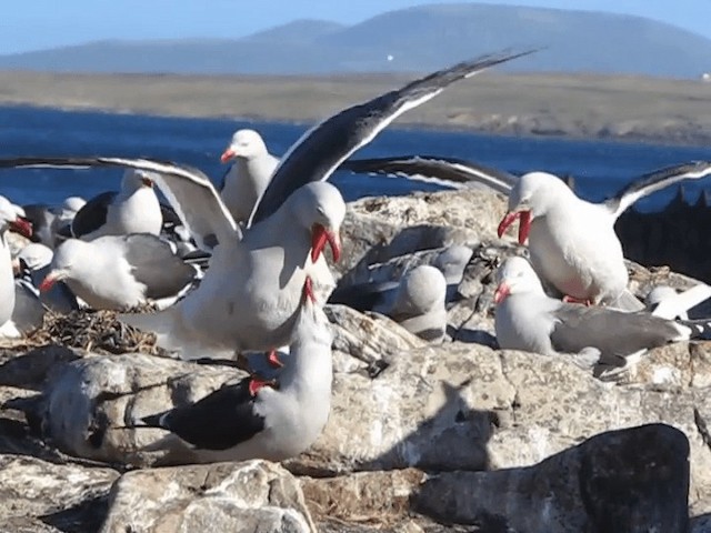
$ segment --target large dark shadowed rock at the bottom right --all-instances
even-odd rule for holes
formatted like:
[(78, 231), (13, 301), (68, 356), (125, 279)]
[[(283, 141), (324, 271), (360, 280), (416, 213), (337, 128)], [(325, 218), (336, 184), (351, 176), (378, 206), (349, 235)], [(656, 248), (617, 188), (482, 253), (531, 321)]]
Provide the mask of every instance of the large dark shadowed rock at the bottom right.
[(663, 424), (597, 435), (533, 466), (442, 473), (418, 511), (500, 531), (687, 531), (689, 443)]

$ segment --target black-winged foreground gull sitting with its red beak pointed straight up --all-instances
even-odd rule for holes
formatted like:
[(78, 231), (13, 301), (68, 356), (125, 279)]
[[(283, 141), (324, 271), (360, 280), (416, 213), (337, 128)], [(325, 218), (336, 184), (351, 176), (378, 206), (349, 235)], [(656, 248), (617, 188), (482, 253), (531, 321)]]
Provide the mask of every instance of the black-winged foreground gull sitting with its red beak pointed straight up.
[(172, 432), (194, 447), (199, 462), (282, 461), (307, 450), (331, 410), (332, 336), (321, 308), (304, 300), (277, 386), (246, 378), (136, 426)]

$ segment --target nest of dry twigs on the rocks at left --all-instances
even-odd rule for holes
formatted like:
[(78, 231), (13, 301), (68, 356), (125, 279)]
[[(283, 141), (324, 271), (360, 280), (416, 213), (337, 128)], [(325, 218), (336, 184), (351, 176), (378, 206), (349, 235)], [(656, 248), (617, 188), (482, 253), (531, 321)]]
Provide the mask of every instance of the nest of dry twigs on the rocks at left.
[(79, 310), (69, 314), (44, 313), (42, 328), (26, 339), (28, 346), (59, 344), (94, 353), (141, 352), (164, 355), (153, 333), (144, 333), (117, 319), (116, 311)]

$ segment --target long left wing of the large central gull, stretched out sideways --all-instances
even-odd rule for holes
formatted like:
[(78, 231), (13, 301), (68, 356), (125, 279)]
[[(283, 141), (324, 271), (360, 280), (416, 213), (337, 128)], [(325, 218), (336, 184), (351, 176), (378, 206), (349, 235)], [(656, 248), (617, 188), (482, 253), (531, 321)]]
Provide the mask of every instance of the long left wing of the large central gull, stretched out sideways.
[(220, 200), (210, 179), (200, 170), (169, 161), (130, 158), (8, 158), (0, 169), (86, 169), (118, 167), (153, 172), (153, 181), (192, 234), (198, 247), (211, 250), (214, 241), (240, 240), (242, 233)]

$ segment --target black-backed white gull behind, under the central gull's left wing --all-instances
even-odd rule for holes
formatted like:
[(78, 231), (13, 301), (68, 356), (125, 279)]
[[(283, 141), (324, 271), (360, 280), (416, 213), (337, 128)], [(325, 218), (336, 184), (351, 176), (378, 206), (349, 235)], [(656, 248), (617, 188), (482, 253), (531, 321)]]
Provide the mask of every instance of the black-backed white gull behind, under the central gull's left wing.
[(160, 203), (151, 174), (129, 169), (121, 180), (120, 192), (103, 192), (77, 212), (71, 233), (83, 241), (129, 233), (158, 235), (161, 224)]

